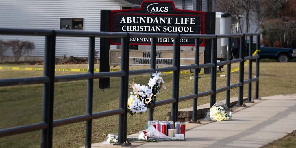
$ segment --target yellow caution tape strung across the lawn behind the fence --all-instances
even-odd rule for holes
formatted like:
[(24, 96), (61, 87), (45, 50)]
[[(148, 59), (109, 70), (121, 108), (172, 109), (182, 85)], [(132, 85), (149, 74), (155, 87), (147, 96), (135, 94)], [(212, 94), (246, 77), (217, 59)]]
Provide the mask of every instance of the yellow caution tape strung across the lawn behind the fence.
[[(257, 52), (260, 52), (260, 50), (256, 50), (254, 53), (253, 53), (253, 56), (255, 54), (257, 54)], [(246, 62), (244, 62), (244, 66), (246, 66), (247, 64), (249, 63), (249, 61), (247, 60)], [(0, 67), (0, 69), (3, 69), (3, 70), (31, 70), (31, 71), (42, 71), (44, 70), (43, 68), (30, 68), (30, 67)], [(67, 69), (67, 68), (56, 68), (54, 69), (55, 71), (85, 71), (87, 72), (88, 69)], [(239, 70), (239, 67), (236, 67), (236, 68), (233, 68), (230, 70), (231, 73), (235, 72), (235, 71), (238, 71)], [(94, 72), (99, 72), (100, 69), (94, 69)], [(110, 69), (110, 71), (120, 71), (120, 69)], [(173, 73), (172, 71), (170, 72), (163, 72), (163, 73)], [(180, 71), (180, 73), (190, 73), (190, 74), (193, 74), (189, 71)], [(199, 73), (199, 74), (204, 74), (204, 73)], [(223, 74), (226, 74), (226, 72), (222, 72), (222, 73), (217, 73), (219, 75), (223, 75)]]

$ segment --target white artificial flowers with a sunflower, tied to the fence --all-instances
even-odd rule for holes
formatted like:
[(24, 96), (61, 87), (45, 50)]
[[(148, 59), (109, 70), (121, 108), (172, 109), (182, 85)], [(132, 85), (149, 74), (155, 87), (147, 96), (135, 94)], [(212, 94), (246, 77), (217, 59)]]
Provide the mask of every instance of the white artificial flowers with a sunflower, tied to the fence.
[(160, 72), (152, 74), (153, 78), (150, 78), (148, 86), (130, 83), (130, 87), (133, 89), (128, 98), (128, 109), (131, 115), (146, 112), (145, 105), (154, 105), (156, 94), (160, 93), (160, 89), (165, 89), (163, 78), (159, 75), (161, 75)]

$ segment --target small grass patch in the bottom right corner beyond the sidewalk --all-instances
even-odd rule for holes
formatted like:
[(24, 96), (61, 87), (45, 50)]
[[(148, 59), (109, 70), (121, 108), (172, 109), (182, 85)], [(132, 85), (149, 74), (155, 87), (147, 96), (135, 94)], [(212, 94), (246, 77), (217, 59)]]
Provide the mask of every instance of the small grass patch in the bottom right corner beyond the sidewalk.
[(295, 148), (296, 147), (296, 131), (288, 134), (287, 136), (271, 142), (261, 148)]

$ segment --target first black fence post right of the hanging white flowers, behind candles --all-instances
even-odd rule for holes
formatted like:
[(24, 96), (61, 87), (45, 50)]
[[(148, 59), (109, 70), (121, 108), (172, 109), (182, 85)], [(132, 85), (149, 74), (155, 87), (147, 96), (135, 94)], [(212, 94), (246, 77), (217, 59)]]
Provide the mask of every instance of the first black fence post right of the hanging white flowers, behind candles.
[(172, 86), (172, 98), (176, 99), (176, 102), (172, 104), (171, 120), (178, 121), (178, 102), (179, 102), (179, 74), (180, 74), (180, 35), (174, 38), (174, 52), (173, 52), (173, 66), (177, 67), (177, 70), (173, 71), (173, 86)]

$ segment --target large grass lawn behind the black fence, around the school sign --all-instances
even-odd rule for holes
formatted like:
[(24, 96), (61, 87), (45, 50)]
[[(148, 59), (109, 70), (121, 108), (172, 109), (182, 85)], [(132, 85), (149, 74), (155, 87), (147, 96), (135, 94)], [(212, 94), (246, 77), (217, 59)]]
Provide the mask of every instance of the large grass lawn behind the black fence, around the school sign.
[[(255, 65), (255, 63), (253, 63)], [(12, 65), (0, 65), (12, 66)], [(237, 67), (233, 64), (232, 67)], [(17, 67), (20, 67), (17, 65)], [(43, 65), (23, 65), (22, 67), (43, 67)], [(223, 71), (226, 71), (224, 66)], [(87, 65), (56, 65), (56, 68), (87, 68)], [(95, 64), (99, 68), (99, 64)], [(130, 67), (139, 69), (143, 67)], [(260, 96), (296, 93), (296, 63), (260, 63)], [(82, 72), (56, 71), (56, 75), (78, 74)], [(43, 71), (0, 70), (0, 79), (41, 76)], [(255, 66), (253, 67), (253, 76)], [(231, 73), (231, 84), (238, 83), (239, 73)], [(167, 89), (157, 96), (157, 100), (171, 98), (172, 74), (163, 74)], [(201, 75), (198, 91), (210, 90), (210, 75)], [(248, 78), (248, 65), (244, 78)], [(149, 75), (130, 76), (130, 81), (146, 84)], [(100, 90), (99, 80), (94, 81), (93, 112), (102, 112), (119, 107), (120, 78), (110, 79), (110, 89)], [(217, 75), (217, 88), (226, 86), (226, 77)], [(252, 85), (254, 97), (255, 84)], [(55, 83), (54, 120), (86, 113), (87, 81)], [(193, 94), (193, 80), (190, 74), (180, 74), (179, 96)], [(12, 86), (0, 88), (0, 129), (41, 122), (42, 85)], [(238, 89), (231, 90), (231, 97), (238, 96)], [(247, 96), (247, 85), (244, 87)], [(216, 100), (224, 100), (225, 92), (216, 95)], [(198, 104), (209, 103), (209, 96), (198, 99)], [(171, 105), (157, 107), (154, 118), (166, 120)], [(192, 107), (192, 100), (180, 102), (179, 109)], [(144, 129), (148, 111), (128, 118), (128, 134)], [(93, 120), (92, 143), (105, 140), (108, 133), (118, 133), (118, 115)], [(19, 134), (0, 139), (0, 147), (40, 147), (41, 131)], [(85, 122), (54, 128), (53, 147), (83, 147), (85, 143)]]

